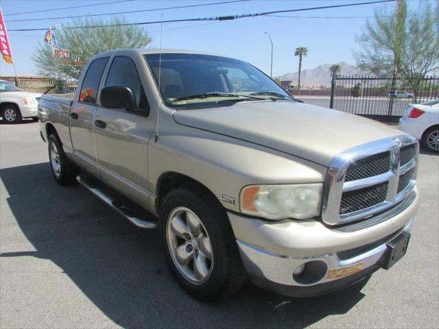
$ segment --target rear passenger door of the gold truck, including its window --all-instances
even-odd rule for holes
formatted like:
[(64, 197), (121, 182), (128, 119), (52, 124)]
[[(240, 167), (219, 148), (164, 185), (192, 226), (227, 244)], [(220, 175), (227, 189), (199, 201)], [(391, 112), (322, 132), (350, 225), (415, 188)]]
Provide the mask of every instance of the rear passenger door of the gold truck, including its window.
[(93, 143), (93, 122), (95, 121), (97, 90), (108, 57), (93, 60), (88, 66), (80, 95), (75, 99), (69, 114), (70, 136), (73, 145), (73, 154), (80, 167), (97, 173), (95, 145)]

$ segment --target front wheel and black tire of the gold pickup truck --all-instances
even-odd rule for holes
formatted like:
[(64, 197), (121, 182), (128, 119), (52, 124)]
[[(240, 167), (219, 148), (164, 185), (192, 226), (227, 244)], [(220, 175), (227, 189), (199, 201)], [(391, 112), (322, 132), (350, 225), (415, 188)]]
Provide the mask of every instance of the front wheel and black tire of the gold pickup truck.
[(165, 197), (161, 236), (168, 265), (182, 289), (198, 300), (213, 302), (239, 291), (248, 277), (224, 208), (209, 193), (194, 191), (200, 188), (185, 186)]

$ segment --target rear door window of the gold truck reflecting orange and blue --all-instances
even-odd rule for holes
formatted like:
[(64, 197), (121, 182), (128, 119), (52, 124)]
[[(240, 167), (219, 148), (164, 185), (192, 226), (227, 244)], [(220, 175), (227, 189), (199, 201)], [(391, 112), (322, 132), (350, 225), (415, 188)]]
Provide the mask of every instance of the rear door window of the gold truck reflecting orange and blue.
[(80, 101), (96, 103), (97, 89), (99, 88), (99, 82), (101, 81), (102, 73), (104, 73), (107, 62), (108, 57), (99, 58), (99, 60), (94, 60), (90, 66), (88, 66), (84, 82), (82, 82)]

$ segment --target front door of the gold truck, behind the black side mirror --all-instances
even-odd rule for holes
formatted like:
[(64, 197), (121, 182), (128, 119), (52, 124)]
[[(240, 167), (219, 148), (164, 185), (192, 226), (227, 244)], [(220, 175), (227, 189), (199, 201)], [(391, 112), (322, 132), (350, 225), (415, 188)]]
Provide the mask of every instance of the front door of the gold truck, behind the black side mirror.
[(99, 177), (147, 207), (147, 147), (154, 119), (132, 58), (115, 56), (103, 86), (130, 88), (137, 99), (137, 109), (97, 108), (95, 121), (101, 121), (100, 127), (95, 126)]

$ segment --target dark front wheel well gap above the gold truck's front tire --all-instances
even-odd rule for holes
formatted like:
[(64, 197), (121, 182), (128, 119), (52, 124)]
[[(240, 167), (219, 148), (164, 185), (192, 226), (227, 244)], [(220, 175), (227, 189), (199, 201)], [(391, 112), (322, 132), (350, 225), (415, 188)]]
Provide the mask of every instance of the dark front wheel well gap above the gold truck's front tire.
[(207, 188), (205, 185), (201, 184), (197, 180), (194, 180), (193, 178), (190, 178), (187, 175), (183, 175), (181, 173), (164, 173), (161, 175), (161, 177), (158, 179), (157, 183), (157, 197), (156, 197), (156, 209), (159, 210), (161, 203), (163, 202), (163, 199), (165, 199), (165, 196), (167, 193), (171, 192), (175, 188), (185, 186), (186, 188), (189, 188), (191, 191), (200, 194), (202, 197), (211, 197), (215, 199), (217, 204), (222, 207), (222, 204), (219, 202), (217, 197), (215, 197), (215, 194), (212, 193), (209, 188)]

